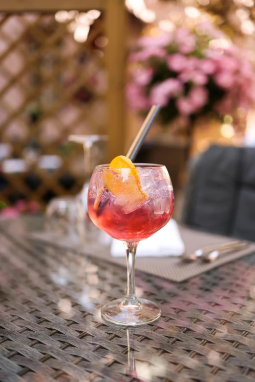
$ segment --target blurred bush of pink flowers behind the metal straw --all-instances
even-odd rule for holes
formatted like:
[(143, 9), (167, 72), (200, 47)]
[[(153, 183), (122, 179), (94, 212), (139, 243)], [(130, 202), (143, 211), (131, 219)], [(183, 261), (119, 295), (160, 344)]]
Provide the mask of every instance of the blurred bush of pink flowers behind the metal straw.
[(246, 52), (209, 23), (193, 32), (178, 28), (142, 37), (129, 62), (130, 106), (146, 113), (160, 104), (163, 123), (177, 118), (188, 124), (211, 112), (238, 118), (255, 103), (255, 73)]

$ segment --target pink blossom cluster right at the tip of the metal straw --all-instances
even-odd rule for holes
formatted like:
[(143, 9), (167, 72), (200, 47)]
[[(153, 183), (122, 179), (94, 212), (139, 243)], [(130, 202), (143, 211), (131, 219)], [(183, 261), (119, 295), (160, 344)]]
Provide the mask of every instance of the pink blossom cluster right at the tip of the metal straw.
[(183, 91), (183, 84), (176, 79), (170, 78), (151, 89), (150, 104), (166, 106), (171, 97), (178, 96)]

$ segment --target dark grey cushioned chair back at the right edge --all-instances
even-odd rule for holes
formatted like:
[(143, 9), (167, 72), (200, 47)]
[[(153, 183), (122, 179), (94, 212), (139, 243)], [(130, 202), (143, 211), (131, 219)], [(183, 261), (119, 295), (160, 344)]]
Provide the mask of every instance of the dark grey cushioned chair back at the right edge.
[(193, 161), (181, 220), (255, 241), (255, 148), (213, 145)]

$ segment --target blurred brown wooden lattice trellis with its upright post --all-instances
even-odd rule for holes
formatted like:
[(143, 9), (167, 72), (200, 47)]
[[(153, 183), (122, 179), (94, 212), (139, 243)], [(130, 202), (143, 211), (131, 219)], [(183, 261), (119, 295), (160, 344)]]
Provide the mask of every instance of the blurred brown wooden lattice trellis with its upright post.
[[(109, 156), (124, 145), (119, 132), (124, 120), (124, 54), (119, 44), (124, 34), (116, 32), (124, 20), (118, 18), (124, 15), (124, 3), (101, 1), (100, 18), (79, 43), (73, 37), (75, 15), (65, 22), (55, 20), (58, 1), (45, 1), (41, 7), (23, 2), (27, 11), (20, 13), (20, 1), (10, 1), (8, 8), (0, 1), (0, 10), (8, 11), (0, 14), (0, 143), (8, 148), (0, 157), (0, 200), (45, 204), (82, 187), (82, 147), (68, 143), (70, 134), (108, 134), (114, 138)], [(78, 3), (72, 6), (78, 8)], [(89, 5), (83, 1), (83, 10)], [(109, 38), (106, 60), (95, 44), (100, 36)], [(20, 159), (21, 169), (10, 171), (9, 159)], [(46, 168), (45, 160), (57, 160), (56, 168)]]

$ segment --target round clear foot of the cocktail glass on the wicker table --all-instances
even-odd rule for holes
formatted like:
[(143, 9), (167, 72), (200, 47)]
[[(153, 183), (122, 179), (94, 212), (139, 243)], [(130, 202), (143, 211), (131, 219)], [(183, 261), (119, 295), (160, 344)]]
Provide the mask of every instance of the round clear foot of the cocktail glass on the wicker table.
[(161, 310), (149, 300), (139, 299), (138, 305), (123, 305), (123, 299), (108, 302), (101, 309), (102, 318), (117, 325), (138, 326), (156, 321)]

